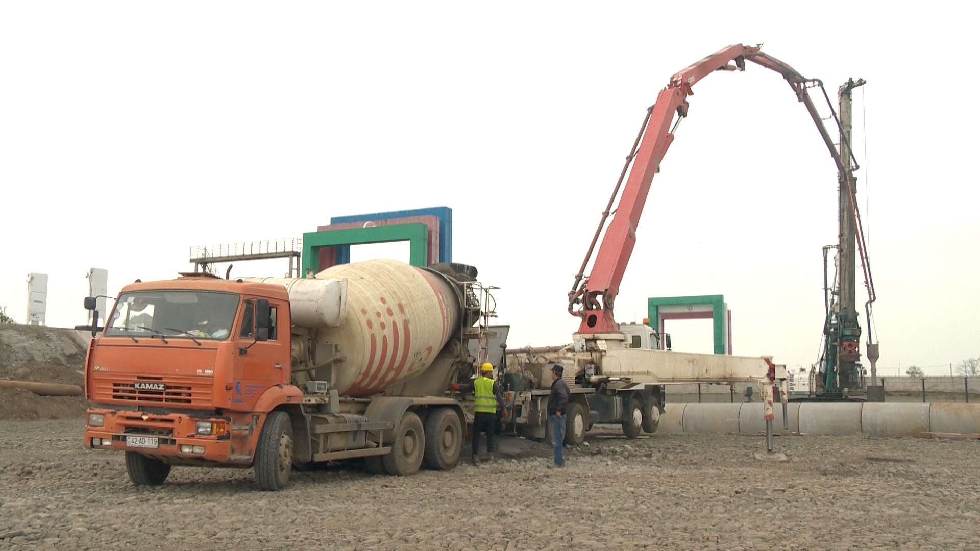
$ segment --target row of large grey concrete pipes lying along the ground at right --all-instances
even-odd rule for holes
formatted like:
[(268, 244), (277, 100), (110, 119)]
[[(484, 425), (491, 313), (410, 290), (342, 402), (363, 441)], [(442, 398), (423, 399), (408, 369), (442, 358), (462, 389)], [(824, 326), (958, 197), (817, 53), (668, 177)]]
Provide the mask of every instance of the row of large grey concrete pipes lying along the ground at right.
[[(759, 434), (766, 429), (763, 405), (666, 404), (662, 433)], [(813, 435), (867, 434), (928, 438), (933, 434), (980, 434), (980, 404), (790, 402), (774, 408), (773, 425)]]

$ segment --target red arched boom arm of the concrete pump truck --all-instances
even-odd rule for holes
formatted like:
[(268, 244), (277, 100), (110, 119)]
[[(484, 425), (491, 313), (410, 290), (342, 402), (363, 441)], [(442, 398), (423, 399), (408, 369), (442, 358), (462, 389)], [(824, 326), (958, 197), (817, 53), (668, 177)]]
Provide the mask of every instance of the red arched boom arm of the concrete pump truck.
[[(568, 292), (568, 312), (582, 320), (579, 333), (618, 332), (619, 325), (613, 319), (613, 305), (619, 293), (619, 282), (622, 280), (636, 244), (636, 227), (640, 223), (640, 215), (643, 213), (643, 206), (650, 192), (650, 184), (654, 175), (661, 171), (663, 155), (673, 142), (674, 130), (680, 121), (687, 117), (687, 96), (694, 94), (691, 87), (715, 71), (745, 71), (745, 60), (775, 71), (786, 78), (800, 101), (806, 104), (810, 117), (817, 125), (831, 156), (837, 163), (838, 171), (849, 174), (849, 171), (845, 170), (845, 161), (841, 159), (833, 139), (827, 133), (807, 93), (808, 85), (822, 87), (819, 80), (805, 78), (783, 62), (761, 53), (759, 47), (742, 44), (719, 50), (671, 76), (667, 87), (663, 88), (657, 96), (657, 103), (647, 111), (647, 120), (633, 144), (633, 151), (626, 158), (626, 165), (619, 175), (619, 181), (616, 182), (613, 196), (603, 213), (602, 222), (592, 239), (582, 268), (575, 275), (571, 291)], [(729, 65), (730, 62), (734, 62), (735, 65)], [(678, 117), (677, 123), (673, 123), (675, 115)], [(607, 229), (596, 255), (592, 274), (583, 276), (630, 163), (633, 168), (615, 209), (616, 216), (613, 217), (613, 222)]]

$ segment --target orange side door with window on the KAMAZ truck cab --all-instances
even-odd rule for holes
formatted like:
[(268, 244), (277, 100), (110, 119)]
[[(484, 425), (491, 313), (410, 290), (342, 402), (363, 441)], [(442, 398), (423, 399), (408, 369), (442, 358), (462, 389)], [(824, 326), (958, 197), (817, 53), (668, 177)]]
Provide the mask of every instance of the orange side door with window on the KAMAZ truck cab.
[[(258, 340), (259, 310), (262, 303), (269, 304), (267, 340)], [(288, 328), (280, 330), (278, 320), (287, 312), (283, 304), (264, 299), (248, 298), (239, 318), (236, 333), (238, 356), (235, 361), (235, 377), (232, 404), (251, 407), (267, 388), (274, 384), (288, 383), (289, 338)], [(282, 316), (288, 319), (288, 314)], [(287, 326), (288, 327), (288, 326)], [(284, 342), (281, 339), (286, 339)], [(244, 354), (242, 351), (245, 351)]]

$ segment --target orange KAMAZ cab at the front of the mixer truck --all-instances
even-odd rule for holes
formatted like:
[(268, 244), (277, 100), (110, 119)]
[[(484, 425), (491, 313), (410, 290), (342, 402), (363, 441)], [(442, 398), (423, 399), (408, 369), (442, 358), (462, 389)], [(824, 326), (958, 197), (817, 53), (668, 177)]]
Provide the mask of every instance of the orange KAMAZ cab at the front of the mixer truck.
[[(85, 446), (125, 450), (130, 477), (248, 467), (262, 417), (293, 399), (279, 285), (184, 274), (123, 288), (85, 366)], [(161, 480), (162, 481), (162, 480)]]

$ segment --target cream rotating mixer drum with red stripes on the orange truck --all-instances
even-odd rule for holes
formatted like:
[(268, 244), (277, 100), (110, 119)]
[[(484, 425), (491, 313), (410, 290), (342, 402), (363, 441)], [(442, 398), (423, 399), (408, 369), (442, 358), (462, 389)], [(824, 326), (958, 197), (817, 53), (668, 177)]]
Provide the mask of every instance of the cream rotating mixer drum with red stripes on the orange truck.
[(370, 396), (424, 372), (463, 315), (455, 283), (396, 260), (341, 264), (317, 279), (347, 281), (343, 323), (316, 332), (345, 357), (333, 367), (342, 396)]

